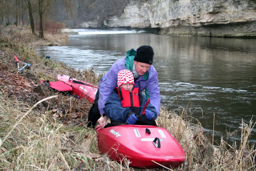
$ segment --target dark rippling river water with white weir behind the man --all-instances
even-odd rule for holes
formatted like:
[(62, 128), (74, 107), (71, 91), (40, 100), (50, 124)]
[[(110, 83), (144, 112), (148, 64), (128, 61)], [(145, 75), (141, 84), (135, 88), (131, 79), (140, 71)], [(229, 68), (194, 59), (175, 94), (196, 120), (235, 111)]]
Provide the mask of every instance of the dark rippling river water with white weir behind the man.
[[(38, 54), (76, 69), (93, 67), (105, 73), (127, 50), (151, 45), (162, 106), (178, 114), (181, 107), (187, 108), (208, 136), (215, 125), (217, 141), (227, 137), (226, 130), (238, 129), (242, 119), (249, 123), (255, 114), (256, 39), (167, 36), (124, 29), (75, 31), (79, 34), (70, 35), (61, 46), (36, 47)], [(256, 129), (250, 141), (256, 142)]]

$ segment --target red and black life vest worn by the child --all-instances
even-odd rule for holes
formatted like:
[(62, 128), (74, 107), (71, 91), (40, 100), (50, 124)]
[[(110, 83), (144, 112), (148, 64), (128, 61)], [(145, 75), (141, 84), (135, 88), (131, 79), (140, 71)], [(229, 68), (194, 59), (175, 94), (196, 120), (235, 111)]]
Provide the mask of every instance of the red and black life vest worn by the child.
[[(127, 91), (123, 88), (117, 88), (118, 96), (121, 100), (123, 108), (130, 108), (132, 112), (140, 114), (140, 105), (142, 105), (143, 97), (139, 88), (134, 88), (133, 91)], [(140, 97), (139, 97), (140, 94)]]

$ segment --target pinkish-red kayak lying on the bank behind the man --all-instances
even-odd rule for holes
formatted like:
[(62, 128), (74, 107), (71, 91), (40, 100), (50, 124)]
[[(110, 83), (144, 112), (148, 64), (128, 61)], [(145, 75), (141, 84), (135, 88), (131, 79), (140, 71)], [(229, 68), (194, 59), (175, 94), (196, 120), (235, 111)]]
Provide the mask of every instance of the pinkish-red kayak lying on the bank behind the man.
[(72, 94), (76, 95), (78, 98), (86, 98), (90, 102), (94, 102), (98, 87), (93, 86), (93, 84), (90, 84), (88, 82), (77, 80), (68, 75), (58, 74), (57, 79), (68, 84), (69, 86), (72, 86)]

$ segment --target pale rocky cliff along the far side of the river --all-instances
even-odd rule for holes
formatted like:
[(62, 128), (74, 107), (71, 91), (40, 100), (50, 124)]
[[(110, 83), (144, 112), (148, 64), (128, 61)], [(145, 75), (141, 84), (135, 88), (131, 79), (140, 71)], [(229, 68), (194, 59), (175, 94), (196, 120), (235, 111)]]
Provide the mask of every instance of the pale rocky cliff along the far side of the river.
[[(98, 21), (82, 23), (96, 28)], [(158, 28), (161, 34), (256, 36), (255, 0), (131, 0), (104, 27)]]

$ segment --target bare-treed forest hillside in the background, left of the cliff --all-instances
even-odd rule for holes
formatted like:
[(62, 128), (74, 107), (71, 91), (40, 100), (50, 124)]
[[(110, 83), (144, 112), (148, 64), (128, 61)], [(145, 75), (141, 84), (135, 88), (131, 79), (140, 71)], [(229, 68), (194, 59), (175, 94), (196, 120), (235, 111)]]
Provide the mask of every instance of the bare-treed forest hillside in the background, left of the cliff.
[(81, 22), (97, 19), (100, 27), (104, 19), (120, 16), (127, 3), (129, 0), (0, 0), (0, 24), (42, 27), (51, 20), (78, 28)]

